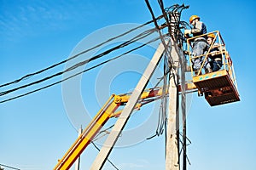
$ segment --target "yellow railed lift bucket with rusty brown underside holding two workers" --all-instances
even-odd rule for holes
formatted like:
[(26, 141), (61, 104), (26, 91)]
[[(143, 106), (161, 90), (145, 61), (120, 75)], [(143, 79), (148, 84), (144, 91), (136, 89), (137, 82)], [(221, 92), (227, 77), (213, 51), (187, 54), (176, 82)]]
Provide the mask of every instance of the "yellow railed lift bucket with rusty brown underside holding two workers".
[[(230, 54), (228, 54), (225, 49), (225, 44), (222, 37), (220, 36), (219, 31), (213, 31), (210, 33), (214, 33), (216, 35), (214, 41), (216, 41), (216, 44), (218, 44), (218, 54), (222, 56), (223, 65), (219, 71), (214, 71), (210, 73), (204, 72), (203, 66), (207, 61), (207, 57), (210, 56), (210, 49), (212, 48), (211, 45), (211, 47), (207, 51), (207, 54), (203, 56), (201, 70), (198, 71), (198, 74), (195, 75), (195, 72), (192, 69), (192, 61), (193, 58), (195, 58), (196, 56), (193, 57), (191, 56), (191, 53), (189, 53), (189, 62), (191, 66), (193, 82), (196, 88), (198, 88), (199, 94), (204, 94), (205, 99), (207, 99), (207, 102), (211, 106), (224, 105), (231, 102), (240, 101), (240, 96), (236, 85), (235, 71), (232, 65), (232, 60), (230, 59)], [(194, 37), (187, 40), (188, 44), (191, 44), (193, 38)], [(188, 50), (190, 48), (191, 47), (189, 47)]]

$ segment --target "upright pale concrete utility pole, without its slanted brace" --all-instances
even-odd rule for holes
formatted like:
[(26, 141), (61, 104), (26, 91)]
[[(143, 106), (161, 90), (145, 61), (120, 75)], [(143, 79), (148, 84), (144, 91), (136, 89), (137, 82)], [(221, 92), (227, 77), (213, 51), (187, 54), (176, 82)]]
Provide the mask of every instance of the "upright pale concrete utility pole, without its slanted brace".
[(179, 112), (178, 112), (178, 90), (179, 82), (178, 67), (182, 51), (177, 47), (175, 31), (177, 29), (179, 15), (171, 14), (171, 56), (170, 59), (170, 79), (169, 79), (169, 107), (167, 115), (167, 136), (166, 136), (166, 170), (179, 170)]

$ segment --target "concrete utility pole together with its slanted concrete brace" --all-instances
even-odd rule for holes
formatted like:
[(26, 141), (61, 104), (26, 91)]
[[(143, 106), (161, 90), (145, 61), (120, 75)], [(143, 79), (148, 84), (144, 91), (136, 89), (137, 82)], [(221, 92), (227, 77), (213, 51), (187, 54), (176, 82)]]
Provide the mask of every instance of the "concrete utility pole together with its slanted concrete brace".
[[(178, 18), (177, 18), (178, 17)], [(180, 170), (180, 157), (179, 157), (179, 98), (178, 98), (178, 83), (179, 83), (179, 72), (180, 66), (183, 63), (182, 59), (183, 51), (178, 47), (176, 32), (178, 26), (179, 14), (175, 13), (171, 15), (171, 32), (172, 38), (171, 43), (168, 42), (168, 49), (165, 49), (164, 44), (160, 44), (159, 48), (156, 50), (153, 59), (151, 59), (146, 71), (143, 73), (143, 77), (138, 82), (137, 87), (131, 94), (127, 105), (125, 105), (124, 110), (119, 116), (118, 121), (115, 123), (113, 130), (108, 136), (108, 139), (102, 146), (102, 150), (96, 156), (96, 160), (93, 162), (90, 169), (98, 170), (102, 169), (105, 161), (107, 160), (113, 145), (117, 142), (119, 134), (125, 127), (126, 122), (131, 116), (137, 100), (140, 95), (143, 93), (144, 88), (146, 87), (149, 78), (152, 76), (155, 67), (160, 62), (161, 56), (164, 51), (170, 51), (170, 80), (169, 80), (169, 106), (168, 106), (168, 115), (167, 115), (167, 129), (166, 129), (166, 170)], [(171, 48), (171, 50), (169, 50)], [(182, 69), (183, 71), (183, 69)], [(183, 75), (184, 83), (184, 75)], [(184, 90), (184, 87), (183, 87)], [(183, 109), (183, 108), (182, 108)], [(185, 110), (183, 110), (185, 111)], [(184, 117), (183, 117), (184, 118)], [(185, 147), (185, 146), (184, 146)], [(183, 150), (184, 151), (184, 150)], [(183, 161), (186, 161), (184, 159)], [(186, 168), (186, 167), (185, 167)], [(183, 169), (184, 170), (184, 169)]]

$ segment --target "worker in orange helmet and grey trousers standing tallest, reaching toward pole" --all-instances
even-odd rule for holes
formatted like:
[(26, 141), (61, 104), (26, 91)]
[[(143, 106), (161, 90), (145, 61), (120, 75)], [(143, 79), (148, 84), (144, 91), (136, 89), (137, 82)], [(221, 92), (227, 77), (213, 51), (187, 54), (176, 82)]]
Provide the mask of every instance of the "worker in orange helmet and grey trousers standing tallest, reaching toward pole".
[(192, 44), (192, 51), (194, 59), (192, 59), (193, 62), (193, 69), (195, 71), (195, 74), (197, 75), (198, 71), (201, 69), (201, 62), (203, 60), (203, 57), (197, 57), (201, 54), (204, 54), (204, 52), (207, 50), (207, 39), (206, 37), (198, 37), (202, 34), (207, 33), (207, 26), (200, 21), (200, 17), (197, 15), (192, 15), (189, 18), (189, 23), (193, 26), (191, 30), (185, 30), (184, 35), (185, 37), (189, 37), (189, 34), (193, 34), (193, 37), (196, 37), (194, 39), (194, 42)]

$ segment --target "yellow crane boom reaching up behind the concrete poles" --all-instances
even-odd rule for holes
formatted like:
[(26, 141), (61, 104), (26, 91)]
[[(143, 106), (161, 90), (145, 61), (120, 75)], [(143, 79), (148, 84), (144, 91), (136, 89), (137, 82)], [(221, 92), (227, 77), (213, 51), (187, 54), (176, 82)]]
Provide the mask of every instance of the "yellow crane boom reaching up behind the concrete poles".
[[(193, 83), (188, 83), (186, 85), (186, 90), (188, 89), (195, 89), (195, 85)], [(146, 105), (155, 99), (160, 99), (162, 94), (162, 88), (159, 87), (146, 89), (138, 100), (135, 109), (139, 109), (142, 105)], [(166, 94), (168, 94), (168, 92), (166, 92)], [(104, 124), (108, 122), (108, 119), (111, 117), (118, 117), (120, 115), (121, 111), (117, 111), (117, 109), (120, 105), (125, 105), (130, 97), (130, 94), (112, 94), (106, 104), (102, 106), (102, 109), (98, 111), (96, 116), (91, 120), (90, 124), (84, 129), (79, 138), (76, 139), (70, 149), (67, 150), (67, 153), (61, 158), (61, 160), (58, 160), (54, 170), (69, 169), (73, 165), (74, 161), (76, 161), (81, 155), (87, 145), (90, 144), (90, 142), (94, 139), (96, 134), (99, 133)]]

